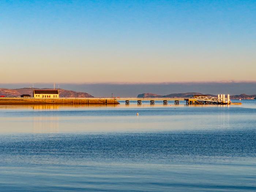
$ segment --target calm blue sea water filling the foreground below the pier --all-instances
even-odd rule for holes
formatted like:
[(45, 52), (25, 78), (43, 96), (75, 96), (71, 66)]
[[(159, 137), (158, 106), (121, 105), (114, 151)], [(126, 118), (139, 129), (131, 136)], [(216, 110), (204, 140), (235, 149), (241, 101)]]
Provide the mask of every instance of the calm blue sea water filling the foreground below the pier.
[(0, 106), (0, 191), (256, 191), (242, 102)]

